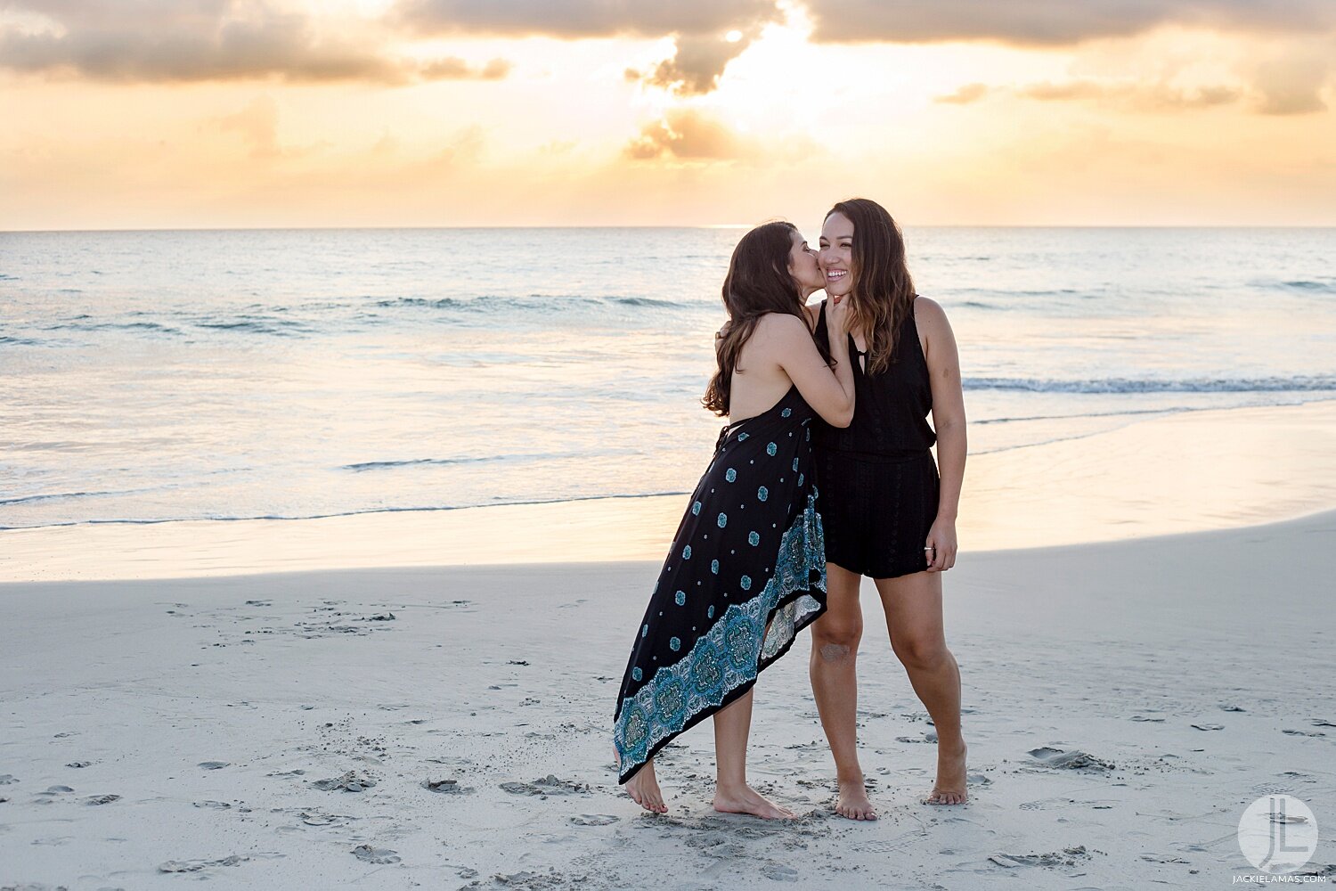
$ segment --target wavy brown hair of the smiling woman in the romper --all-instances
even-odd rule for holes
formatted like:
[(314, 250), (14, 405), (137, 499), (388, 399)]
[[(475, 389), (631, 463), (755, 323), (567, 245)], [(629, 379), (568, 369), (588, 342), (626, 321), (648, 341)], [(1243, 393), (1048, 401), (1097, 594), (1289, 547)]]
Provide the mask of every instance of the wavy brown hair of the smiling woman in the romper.
[(867, 371), (880, 374), (891, 366), (900, 326), (914, 311), (914, 279), (904, 262), (904, 236), (886, 208), (867, 198), (850, 198), (827, 211), (854, 223), (854, 277), (850, 291), (848, 327), (867, 337)]

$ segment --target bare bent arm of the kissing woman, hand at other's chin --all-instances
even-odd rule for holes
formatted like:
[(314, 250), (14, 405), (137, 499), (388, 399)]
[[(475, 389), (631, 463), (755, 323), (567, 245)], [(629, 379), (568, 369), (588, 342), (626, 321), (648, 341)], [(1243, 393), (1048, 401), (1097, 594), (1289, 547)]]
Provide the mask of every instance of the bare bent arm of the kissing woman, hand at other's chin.
[[(834, 369), (818, 353), (807, 325), (795, 315), (771, 313), (762, 319), (754, 335), (759, 338), (758, 346), (764, 355), (783, 369), (807, 405), (836, 427), (847, 427), (854, 419), (854, 371), (848, 365), (848, 338), (844, 337), (843, 319), (843, 313), (827, 311)], [(836, 342), (839, 351), (835, 349)]]

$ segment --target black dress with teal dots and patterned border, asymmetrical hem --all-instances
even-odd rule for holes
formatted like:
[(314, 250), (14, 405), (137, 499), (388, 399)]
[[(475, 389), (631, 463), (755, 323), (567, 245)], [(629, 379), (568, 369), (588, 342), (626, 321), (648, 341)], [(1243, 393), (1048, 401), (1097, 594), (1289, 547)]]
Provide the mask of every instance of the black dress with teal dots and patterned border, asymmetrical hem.
[(619, 781), (749, 691), (826, 612), (812, 418), (791, 387), (768, 411), (719, 435), (621, 681)]

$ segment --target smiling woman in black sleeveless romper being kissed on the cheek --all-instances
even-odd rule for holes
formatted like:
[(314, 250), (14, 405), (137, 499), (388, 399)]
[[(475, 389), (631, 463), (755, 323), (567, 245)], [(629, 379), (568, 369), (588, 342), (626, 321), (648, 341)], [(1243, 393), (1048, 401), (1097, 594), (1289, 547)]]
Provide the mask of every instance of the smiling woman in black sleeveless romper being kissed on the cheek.
[(966, 800), (961, 673), (942, 628), (941, 574), (955, 564), (965, 399), (951, 326), (941, 306), (914, 293), (890, 214), (867, 199), (840, 202), (826, 215), (820, 243), (828, 299), (812, 313), (816, 334), (832, 303), (850, 305), (858, 409), (847, 429), (818, 425), (812, 433), (828, 612), (812, 625), (811, 677), (835, 756), (835, 810), (870, 820), (876, 811), (856, 751), (863, 576), (876, 585), (891, 648), (937, 731), (937, 781), (923, 800)]

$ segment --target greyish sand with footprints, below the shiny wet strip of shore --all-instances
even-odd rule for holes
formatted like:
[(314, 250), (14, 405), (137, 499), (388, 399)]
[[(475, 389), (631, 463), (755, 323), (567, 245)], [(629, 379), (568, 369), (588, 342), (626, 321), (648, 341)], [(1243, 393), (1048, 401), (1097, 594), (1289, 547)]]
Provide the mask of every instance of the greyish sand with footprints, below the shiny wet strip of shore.
[(831, 814), (806, 641), (751, 744), (799, 820), (715, 815), (708, 729), (661, 757), (667, 816), (620, 792), (653, 562), (8, 584), (0, 887), (1221, 887), (1275, 791), (1331, 875), (1333, 536), (1324, 513), (963, 560), (961, 808), (918, 801), (933, 728), (866, 596), (868, 824)]

